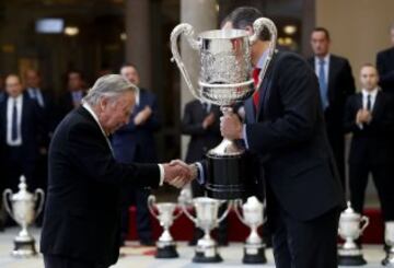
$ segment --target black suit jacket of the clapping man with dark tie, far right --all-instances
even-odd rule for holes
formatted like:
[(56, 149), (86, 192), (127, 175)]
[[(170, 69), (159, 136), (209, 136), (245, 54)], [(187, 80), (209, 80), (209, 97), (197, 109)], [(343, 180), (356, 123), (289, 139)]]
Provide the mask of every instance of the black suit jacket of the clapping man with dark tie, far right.
[(379, 92), (372, 109), (372, 121), (356, 124), (356, 115), (362, 108), (362, 94), (348, 98), (346, 104), (345, 130), (351, 132), (349, 163), (351, 164), (391, 164), (393, 162), (394, 115), (392, 100)]

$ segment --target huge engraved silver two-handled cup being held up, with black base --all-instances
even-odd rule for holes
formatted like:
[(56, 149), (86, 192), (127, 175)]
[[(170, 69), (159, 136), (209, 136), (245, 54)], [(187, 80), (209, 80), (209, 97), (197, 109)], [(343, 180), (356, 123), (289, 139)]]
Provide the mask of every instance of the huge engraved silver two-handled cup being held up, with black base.
[[(223, 114), (231, 112), (231, 106), (253, 95), (255, 88), (251, 77), (251, 46), (258, 39), (264, 27), (270, 33), (268, 57), (259, 73), (262, 83), (267, 67), (275, 53), (277, 28), (266, 18), (257, 19), (254, 34), (248, 36), (244, 30), (215, 30), (202, 32), (194, 38), (194, 28), (187, 23), (177, 25), (171, 33), (171, 50), (178, 69), (192, 94), (201, 102), (221, 106)], [(200, 74), (198, 90), (182, 61), (177, 39), (184, 35), (190, 47), (199, 53)], [(259, 86), (257, 86), (258, 89)], [(216, 199), (236, 199), (247, 194), (253, 187), (247, 172), (245, 150), (234, 141), (223, 141), (207, 153), (208, 174), (206, 188), (208, 196)]]

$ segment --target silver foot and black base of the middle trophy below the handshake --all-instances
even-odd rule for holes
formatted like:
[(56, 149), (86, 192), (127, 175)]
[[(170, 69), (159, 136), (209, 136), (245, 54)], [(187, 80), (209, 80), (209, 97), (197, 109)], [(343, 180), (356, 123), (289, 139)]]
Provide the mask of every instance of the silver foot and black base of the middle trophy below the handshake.
[(210, 264), (221, 263), (223, 259), (218, 253), (216, 242), (211, 238), (201, 238), (196, 246), (196, 255), (193, 258), (193, 263)]

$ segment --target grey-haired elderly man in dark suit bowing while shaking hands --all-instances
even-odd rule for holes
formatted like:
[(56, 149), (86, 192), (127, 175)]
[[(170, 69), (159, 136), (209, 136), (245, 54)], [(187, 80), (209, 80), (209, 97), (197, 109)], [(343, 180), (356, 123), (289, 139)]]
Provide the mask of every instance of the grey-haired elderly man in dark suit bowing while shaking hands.
[(46, 268), (109, 267), (119, 255), (120, 188), (176, 187), (179, 165), (116, 162), (108, 135), (129, 121), (136, 86), (100, 78), (83, 105), (60, 123), (49, 147), (49, 182), (40, 250)]

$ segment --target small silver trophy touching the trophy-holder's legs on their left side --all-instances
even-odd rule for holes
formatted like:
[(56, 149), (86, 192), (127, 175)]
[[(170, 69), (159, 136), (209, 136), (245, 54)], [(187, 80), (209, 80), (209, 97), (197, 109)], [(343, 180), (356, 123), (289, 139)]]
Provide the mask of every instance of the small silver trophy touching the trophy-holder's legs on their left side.
[[(243, 217), (239, 210), (242, 207)], [(265, 245), (262, 237), (257, 233), (258, 226), (264, 223), (265, 203), (258, 201), (253, 196), (247, 198), (247, 201), (242, 205), (242, 200), (235, 201), (234, 210), (237, 218), (251, 229), (251, 234), (247, 236), (244, 244), (244, 256), (242, 263), (244, 264), (266, 264)]]

